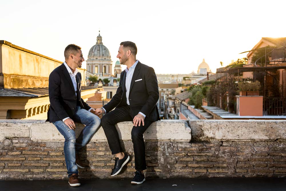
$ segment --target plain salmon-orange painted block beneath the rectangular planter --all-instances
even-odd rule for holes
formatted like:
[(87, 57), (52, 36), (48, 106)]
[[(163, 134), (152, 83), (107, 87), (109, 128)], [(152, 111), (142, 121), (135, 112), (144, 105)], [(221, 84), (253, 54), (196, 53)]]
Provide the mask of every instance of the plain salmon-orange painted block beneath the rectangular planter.
[(262, 116), (263, 96), (239, 96), (240, 116)]

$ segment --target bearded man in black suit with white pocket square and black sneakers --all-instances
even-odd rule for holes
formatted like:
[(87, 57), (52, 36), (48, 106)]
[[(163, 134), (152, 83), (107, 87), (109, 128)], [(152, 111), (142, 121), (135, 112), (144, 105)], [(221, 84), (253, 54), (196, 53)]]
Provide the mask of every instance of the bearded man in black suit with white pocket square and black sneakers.
[[(105, 115), (101, 119), (110, 150), (115, 154), (115, 164), (111, 176), (117, 175), (128, 162), (129, 156), (123, 152), (115, 124), (122, 121), (133, 121), (131, 138), (135, 155), (134, 178), (131, 184), (142, 184), (145, 181), (143, 170), (146, 169), (145, 144), (143, 133), (152, 122), (160, 120), (157, 101), (159, 90), (154, 69), (136, 60), (135, 43), (120, 43), (117, 58), (126, 69), (120, 74), (119, 87), (110, 102), (96, 113)], [(112, 111), (112, 109), (114, 109)]]

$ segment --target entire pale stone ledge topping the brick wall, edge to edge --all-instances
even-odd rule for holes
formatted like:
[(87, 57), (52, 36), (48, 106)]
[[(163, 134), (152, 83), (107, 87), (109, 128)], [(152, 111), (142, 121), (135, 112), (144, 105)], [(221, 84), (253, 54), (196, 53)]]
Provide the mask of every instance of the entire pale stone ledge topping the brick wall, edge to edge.
[[(79, 134), (84, 125), (77, 124)], [(121, 140), (131, 140), (132, 122), (116, 125)], [(0, 120), (0, 141), (29, 137), (33, 141), (64, 141), (56, 127), (44, 120)], [(286, 140), (286, 120), (162, 120), (152, 123), (145, 141), (274, 141)], [(106, 141), (102, 128), (91, 141)]]

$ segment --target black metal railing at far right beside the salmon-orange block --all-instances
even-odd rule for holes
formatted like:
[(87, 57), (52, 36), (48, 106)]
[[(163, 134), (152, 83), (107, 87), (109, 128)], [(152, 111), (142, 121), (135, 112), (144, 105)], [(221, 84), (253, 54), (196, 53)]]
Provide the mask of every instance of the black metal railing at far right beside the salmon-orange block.
[(286, 98), (263, 98), (264, 115), (286, 115)]

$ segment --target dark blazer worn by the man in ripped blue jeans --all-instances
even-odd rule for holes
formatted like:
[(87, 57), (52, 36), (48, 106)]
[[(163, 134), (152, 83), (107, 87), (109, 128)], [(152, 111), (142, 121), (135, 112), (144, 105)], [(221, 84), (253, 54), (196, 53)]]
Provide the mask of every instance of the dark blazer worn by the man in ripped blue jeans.
[(50, 123), (60, 121), (66, 117), (74, 116), (77, 101), (80, 107), (89, 110), (91, 107), (81, 98), (82, 76), (76, 74), (77, 96), (72, 84), (72, 79), (64, 64), (55, 68), (49, 76), (49, 99), (47, 121)]

